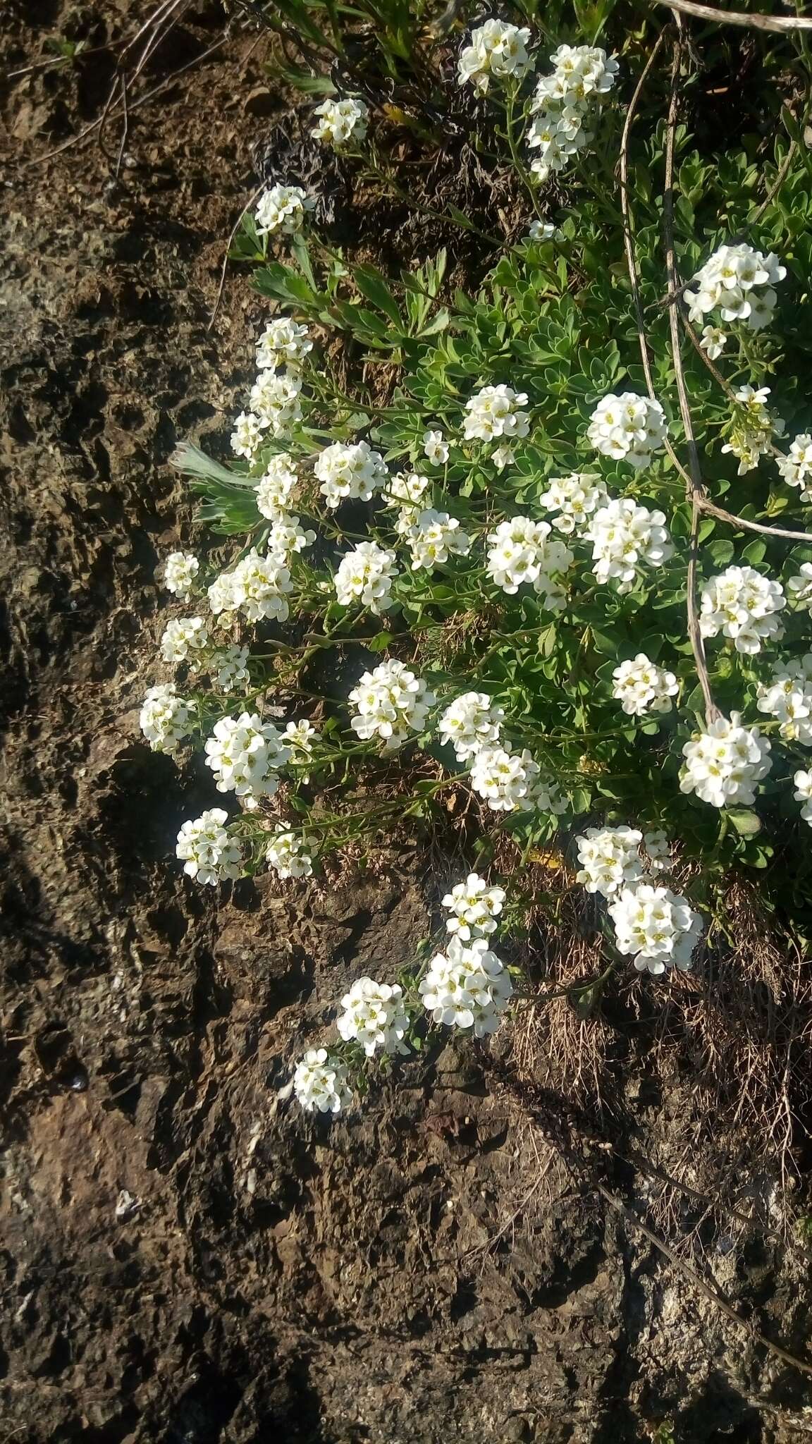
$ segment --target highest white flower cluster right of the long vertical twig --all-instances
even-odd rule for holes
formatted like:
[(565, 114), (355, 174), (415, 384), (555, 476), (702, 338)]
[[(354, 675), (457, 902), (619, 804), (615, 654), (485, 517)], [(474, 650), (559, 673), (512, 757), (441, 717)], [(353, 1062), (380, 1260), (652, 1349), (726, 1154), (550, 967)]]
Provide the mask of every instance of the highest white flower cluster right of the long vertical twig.
[(785, 276), (786, 267), (772, 251), (763, 256), (744, 241), (720, 245), (696, 271), (696, 289), (685, 292), (688, 315), (701, 322), (711, 310), (720, 310), (722, 321), (744, 321), (751, 331), (760, 331), (774, 310), (773, 286)]

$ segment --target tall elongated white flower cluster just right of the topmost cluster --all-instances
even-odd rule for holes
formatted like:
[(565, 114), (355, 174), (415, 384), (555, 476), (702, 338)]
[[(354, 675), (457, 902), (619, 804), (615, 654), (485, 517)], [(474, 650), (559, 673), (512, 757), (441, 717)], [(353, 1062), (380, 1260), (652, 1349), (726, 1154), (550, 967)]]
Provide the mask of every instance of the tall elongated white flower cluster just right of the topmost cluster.
[(617, 78), (617, 61), (592, 45), (561, 45), (550, 55), (553, 69), (536, 85), (535, 120), (527, 146), (537, 150), (530, 170), (545, 182), (563, 170), (571, 156), (592, 139), (591, 116)]

